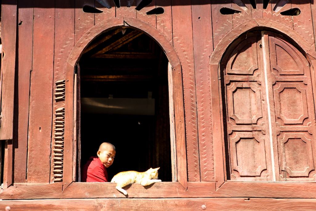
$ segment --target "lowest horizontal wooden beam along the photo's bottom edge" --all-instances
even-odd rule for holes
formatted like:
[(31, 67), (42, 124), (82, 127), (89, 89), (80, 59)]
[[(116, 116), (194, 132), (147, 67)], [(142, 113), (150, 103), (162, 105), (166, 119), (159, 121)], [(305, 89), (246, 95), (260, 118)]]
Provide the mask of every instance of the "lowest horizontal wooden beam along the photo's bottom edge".
[(2, 210), (315, 210), (316, 199), (51, 199), (0, 202)]

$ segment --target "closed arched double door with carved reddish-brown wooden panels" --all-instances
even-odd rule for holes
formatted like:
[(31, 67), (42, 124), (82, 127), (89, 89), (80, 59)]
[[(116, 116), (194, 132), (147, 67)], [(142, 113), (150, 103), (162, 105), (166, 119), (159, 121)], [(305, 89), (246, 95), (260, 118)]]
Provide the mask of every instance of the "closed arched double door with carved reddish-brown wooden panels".
[(221, 64), (227, 178), (314, 180), (314, 84), (307, 59), (270, 32), (236, 42)]

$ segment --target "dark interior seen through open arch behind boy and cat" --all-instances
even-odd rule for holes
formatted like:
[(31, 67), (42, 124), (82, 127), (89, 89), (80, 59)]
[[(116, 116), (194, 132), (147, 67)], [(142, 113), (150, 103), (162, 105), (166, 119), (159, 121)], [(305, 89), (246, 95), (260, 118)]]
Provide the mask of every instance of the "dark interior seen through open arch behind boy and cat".
[(132, 28), (90, 43), (79, 62), (81, 166), (106, 141), (116, 147), (109, 180), (160, 167), (159, 178), (172, 181), (167, 64), (161, 47)]

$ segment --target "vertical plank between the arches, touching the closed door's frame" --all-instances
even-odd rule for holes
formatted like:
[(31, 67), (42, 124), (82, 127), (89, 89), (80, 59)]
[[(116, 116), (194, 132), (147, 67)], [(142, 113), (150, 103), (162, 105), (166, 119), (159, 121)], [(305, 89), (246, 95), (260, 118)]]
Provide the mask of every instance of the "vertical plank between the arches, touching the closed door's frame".
[[(212, 108), (210, 92), (210, 55), (213, 52), (211, 5), (200, 0), (192, 5), (194, 69), (197, 95), (198, 142), (194, 143), (194, 165), (188, 169), (189, 181), (214, 181)], [(191, 153), (191, 152), (188, 152)], [(201, 162), (202, 161), (202, 162)], [(201, 172), (201, 174), (200, 174)]]

